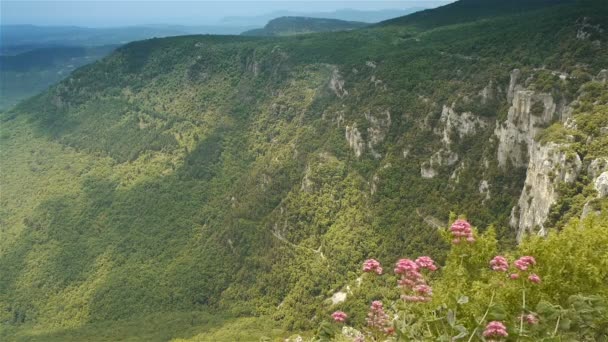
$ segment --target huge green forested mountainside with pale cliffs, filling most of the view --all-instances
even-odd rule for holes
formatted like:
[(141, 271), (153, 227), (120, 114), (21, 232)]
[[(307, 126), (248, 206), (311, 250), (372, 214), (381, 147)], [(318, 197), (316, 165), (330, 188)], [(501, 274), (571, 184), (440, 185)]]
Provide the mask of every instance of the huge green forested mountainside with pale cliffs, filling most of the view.
[(608, 6), (499, 3), (135, 42), (3, 113), (6, 336), (190, 311), (311, 329), (364, 259), (441, 259), (450, 212), (510, 246), (605, 211)]

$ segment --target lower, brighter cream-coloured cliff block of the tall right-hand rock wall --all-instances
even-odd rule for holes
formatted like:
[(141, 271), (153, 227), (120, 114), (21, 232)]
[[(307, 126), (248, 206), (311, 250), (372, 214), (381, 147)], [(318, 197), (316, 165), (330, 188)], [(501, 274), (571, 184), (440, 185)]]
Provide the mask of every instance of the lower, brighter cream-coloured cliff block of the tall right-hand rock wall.
[(534, 144), (531, 150), (524, 189), (511, 212), (511, 225), (518, 228), (518, 242), (536, 229), (544, 234), (543, 224), (557, 199), (557, 185), (573, 182), (581, 171), (580, 157), (564, 152), (563, 147), (555, 143)]

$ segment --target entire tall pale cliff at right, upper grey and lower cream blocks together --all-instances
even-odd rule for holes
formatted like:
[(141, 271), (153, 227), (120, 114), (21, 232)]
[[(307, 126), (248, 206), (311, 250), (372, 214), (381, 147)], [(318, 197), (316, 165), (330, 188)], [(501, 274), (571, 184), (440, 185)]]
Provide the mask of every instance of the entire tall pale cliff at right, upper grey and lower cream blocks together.
[(498, 165), (505, 170), (509, 164), (527, 167), (524, 188), (511, 211), (510, 224), (517, 229), (518, 241), (528, 233), (544, 234), (543, 224), (557, 200), (557, 185), (574, 182), (582, 168), (577, 154), (564, 152), (568, 144), (541, 145), (535, 140), (543, 127), (553, 121), (566, 121), (567, 127), (575, 126), (568, 120), (570, 108), (557, 103), (551, 94), (524, 88), (519, 84), (520, 76), (517, 69), (511, 72), (507, 91), (511, 107), (507, 120), (497, 123), (494, 131), (498, 138)]

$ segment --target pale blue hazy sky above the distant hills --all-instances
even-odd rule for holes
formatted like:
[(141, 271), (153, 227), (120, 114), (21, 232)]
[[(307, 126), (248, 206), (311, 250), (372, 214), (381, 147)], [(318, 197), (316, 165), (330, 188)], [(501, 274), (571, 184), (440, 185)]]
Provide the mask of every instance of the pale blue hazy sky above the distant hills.
[[(505, 0), (506, 1), (506, 0)], [(5, 1), (2, 24), (78, 25), (89, 27), (141, 24), (213, 24), (226, 16), (257, 16), (288, 10), (327, 12), (337, 9), (404, 9), (435, 7), (447, 1)]]

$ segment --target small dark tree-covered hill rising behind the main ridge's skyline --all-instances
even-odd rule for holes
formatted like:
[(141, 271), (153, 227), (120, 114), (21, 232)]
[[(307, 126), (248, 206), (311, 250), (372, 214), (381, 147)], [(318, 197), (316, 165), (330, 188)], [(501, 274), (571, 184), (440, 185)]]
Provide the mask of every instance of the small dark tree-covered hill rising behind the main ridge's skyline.
[(312, 32), (346, 31), (367, 26), (358, 21), (338, 19), (281, 17), (268, 22), (264, 28), (249, 30), (241, 33), (244, 36), (291, 36), (294, 34)]

